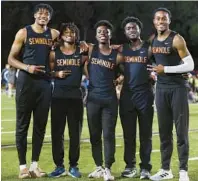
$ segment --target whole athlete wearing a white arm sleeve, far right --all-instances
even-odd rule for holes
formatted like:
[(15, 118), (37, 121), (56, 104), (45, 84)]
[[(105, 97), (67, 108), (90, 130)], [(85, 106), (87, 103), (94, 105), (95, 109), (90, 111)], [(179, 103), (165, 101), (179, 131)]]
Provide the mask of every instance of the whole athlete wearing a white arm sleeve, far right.
[(181, 73), (194, 69), (193, 58), (184, 38), (169, 29), (171, 13), (166, 8), (154, 11), (153, 23), (157, 31), (151, 43), (156, 66), (148, 69), (157, 76), (156, 107), (160, 134), (161, 169), (151, 180), (172, 179), (170, 169), (173, 152), (173, 123), (176, 128), (179, 157), (179, 181), (189, 181), (189, 107), (187, 84)]

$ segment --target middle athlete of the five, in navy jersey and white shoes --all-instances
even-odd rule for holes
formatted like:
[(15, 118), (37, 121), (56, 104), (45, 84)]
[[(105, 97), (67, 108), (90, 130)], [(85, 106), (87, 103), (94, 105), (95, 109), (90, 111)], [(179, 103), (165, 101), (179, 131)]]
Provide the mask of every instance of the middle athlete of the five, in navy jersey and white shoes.
[[(123, 57), (110, 47), (113, 26), (107, 20), (96, 23), (96, 45), (89, 45), (89, 61), (85, 69), (89, 78), (87, 96), (87, 119), (92, 146), (92, 156), (96, 170), (89, 178), (103, 177), (114, 180), (111, 166), (115, 161), (115, 127), (117, 122), (118, 100), (114, 80), (116, 67)], [(102, 136), (104, 140), (104, 167)]]

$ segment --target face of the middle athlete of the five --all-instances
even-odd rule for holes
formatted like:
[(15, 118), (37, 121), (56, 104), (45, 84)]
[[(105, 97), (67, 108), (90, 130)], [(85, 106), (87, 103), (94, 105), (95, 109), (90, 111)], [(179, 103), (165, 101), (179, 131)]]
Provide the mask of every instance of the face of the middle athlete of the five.
[(96, 39), (99, 43), (107, 43), (111, 39), (111, 31), (106, 26), (99, 26), (96, 29)]

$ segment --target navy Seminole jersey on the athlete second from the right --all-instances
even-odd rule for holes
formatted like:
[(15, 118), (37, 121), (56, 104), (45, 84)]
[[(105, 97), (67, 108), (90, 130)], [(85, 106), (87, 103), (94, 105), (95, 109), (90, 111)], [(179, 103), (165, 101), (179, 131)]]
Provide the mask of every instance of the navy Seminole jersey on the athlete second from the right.
[(144, 43), (139, 50), (132, 50), (129, 44), (123, 45), (124, 84), (123, 89), (148, 90), (150, 88), (149, 72), (147, 71), (148, 44)]

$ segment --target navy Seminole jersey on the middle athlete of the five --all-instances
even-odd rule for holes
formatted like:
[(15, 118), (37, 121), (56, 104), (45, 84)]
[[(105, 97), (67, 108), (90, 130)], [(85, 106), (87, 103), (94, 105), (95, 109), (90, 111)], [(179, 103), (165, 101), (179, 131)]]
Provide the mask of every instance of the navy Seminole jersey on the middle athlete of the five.
[(117, 53), (112, 50), (109, 55), (103, 55), (94, 45), (88, 64), (88, 99), (111, 100), (116, 97), (113, 81), (116, 78)]

